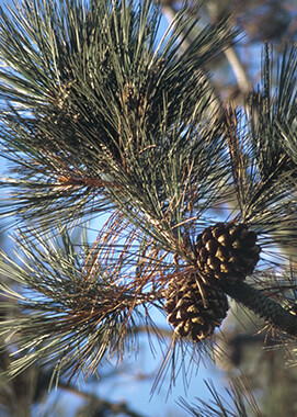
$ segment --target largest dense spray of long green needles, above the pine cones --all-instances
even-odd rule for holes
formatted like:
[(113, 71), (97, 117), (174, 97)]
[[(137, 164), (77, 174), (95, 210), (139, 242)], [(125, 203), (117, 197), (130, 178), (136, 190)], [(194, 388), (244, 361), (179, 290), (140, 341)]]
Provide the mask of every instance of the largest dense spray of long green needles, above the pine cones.
[[(24, 4), (20, 15), (12, 14), (11, 21), (2, 12), (1, 21), (3, 57), (14, 72), (15, 68), (19, 71), (2, 71), (2, 97), (22, 106), (14, 105), (3, 114), (3, 155), (21, 165), (20, 169), (25, 168), (22, 174), (26, 176), (26, 182), (19, 182), (20, 192), (14, 193), (12, 205), (16, 210), (12, 208), (12, 213), (31, 221), (47, 218), (47, 224), (53, 225), (54, 211), (66, 219), (80, 216), (91, 201), (93, 212), (115, 204), (127, 215), (140, 208), (144, 217), (158, 224), (157, 235), (164, 239), (160, 228), (170, 233), (164, 212), (176, 205), (176, 195), (184, 206), (189, 204), (184, 182), (193, 185), (192, 173), (202, 164), (199, 154), (212, 149), (212, 157), (217, 159), (222, 153), (222, 147), (214, 144), (219, 135), (219, 117), (213, 112), (212, 126), (205, 123), (212, 89), (201, 68), (236, 34), (221, 19), (216, 25), (206, 26), (180, 54), (179, 36), (195, 24), (195, 18), (185, 19), (184, 11), (176, 15), (173, 34), (156, 45), (160, 14), (149, 2), (136, 11), (125, 3), (108, 9), (102, 2), (99, 10), (84, 12), (61, 2), (57, 9), (65, 20), (55, 12), (54, 2), (46, 5), (36, 1), (33, 9)], [(15, 44), (4, 33), (10, 29), (16, 36), (19, 21), (23, 30)], [(92, 27), (96, 27), (94, 33)], [(78, 38), (73, 33), (78, 33)], [(119, 49), (118, 38), (123, 41)], [(32, 41), (39, 50), (38, 57), (36, 48), (28, 46)], [(18, 61), (13, 53), (21, 47), (30, 52)], [(80, 55), (83, 47), (88, 59)], [(26, 57), (28, 63), (24, 61)], [(31, 67), (35, 78), (42, 80), (38, 100), (37, 92), (32, 92), (37, 89), (36, 81), (23, 67)], [(21, 86), (14, 87), (23, 79), (27, 80), (26, 93), (31, 98), (26, 104)], [(30, 117), (22, 109), (31, 113)], [(197, 132), (201, 137), (195, 144)], [(183, 155), (187, 148), (192, 160), (180, 158), (182, 148)], [(186, 166), (191, 167), (187, 172)], [(222, 168), (221, 161), (218, 167)], [(203, 168), (206, 178), (210, 167), (206, 167), (205, 160)], [(36, 176), (41, 181), (36, 181)], [(34, 181), (39, 189), (37, 196), (31, 191)], [(14, 183), (16, 188), (18, 179)], [(181, 217), (180, 210), (176, 205), (174, 217)], [(130, 218), (135, 217), (134, 212)]]

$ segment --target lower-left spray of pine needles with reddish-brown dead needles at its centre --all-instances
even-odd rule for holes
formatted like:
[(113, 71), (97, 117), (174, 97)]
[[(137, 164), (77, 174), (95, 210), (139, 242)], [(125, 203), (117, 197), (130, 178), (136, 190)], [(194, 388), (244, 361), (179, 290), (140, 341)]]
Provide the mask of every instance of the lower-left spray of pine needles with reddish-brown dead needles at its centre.
[(134, 229), (123, 244), (127, 226), (112, 217), (92, 247), (83, 236), (75, 239), (73, 230), (19, 232), (22, 264), (2, 252), (1, 272), (21, 289), (1, 284), (5, 298), (20, 309), (18, 319), (0, 324), (1, 335), (10, 337), (14, 350), (18, 346), (10, 377), (35, 361), (53, 367), (53, 381), (60, 373), (68, 379), (78, 372), (90, 375), (104, 357), (137, 350), (134, 327), (152, 323), (147, 305), (162, 309), (158, 277), (161, 267), (169, 267), (162, 266), (158, 249), (153, 252), (145, 240), (139, 247)]

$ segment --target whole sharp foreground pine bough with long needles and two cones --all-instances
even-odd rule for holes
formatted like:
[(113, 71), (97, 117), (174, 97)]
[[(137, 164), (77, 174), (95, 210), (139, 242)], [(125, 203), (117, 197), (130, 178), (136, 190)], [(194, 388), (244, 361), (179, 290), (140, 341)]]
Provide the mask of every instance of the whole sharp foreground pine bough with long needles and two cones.
[(0, 272), (20, 289), (1, 285), (20, 311), (1, 323), (19, 347), (11, 377), (35, 362), (55, 364), (52, 382), (95, 373), (135, 349), (136, 325), (155, 328), (150, 307), (174, 330), (174, 376), (176, 349), (212, 353), (227, 296), (294, 343), (296, 46), (275, 90), (266, 46), (262, 82), (237, 109), (206, 69), (238, 35), (230, 19), (186, 47), (195, 8), (158, 43), (159, 21), (150, 1), (0, 9), (1, 212), (19, 257), (2, 251)]

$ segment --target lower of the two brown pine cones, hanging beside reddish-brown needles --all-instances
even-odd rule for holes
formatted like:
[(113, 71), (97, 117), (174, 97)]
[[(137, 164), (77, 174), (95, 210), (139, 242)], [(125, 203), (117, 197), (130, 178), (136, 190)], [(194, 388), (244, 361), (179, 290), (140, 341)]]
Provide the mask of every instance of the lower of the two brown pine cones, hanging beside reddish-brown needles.
[(195, 273), (172, 278), (165, 294), (168, 322), (182, 337), (199, 341), (214, 334), (228, 311), (225, 293), (216, 285), (202, 284), (201, 294)]

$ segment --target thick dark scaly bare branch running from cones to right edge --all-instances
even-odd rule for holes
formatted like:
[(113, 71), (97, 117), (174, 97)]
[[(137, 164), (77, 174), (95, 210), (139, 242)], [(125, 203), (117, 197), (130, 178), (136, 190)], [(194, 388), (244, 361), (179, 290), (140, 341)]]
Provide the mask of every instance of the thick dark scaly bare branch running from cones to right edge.
[(260, 290), (253, 289), (245, 282), (237, 282), (225, 284), (224, 291), (276, 328), (297, 337), (297, 316), (269, 298)]

